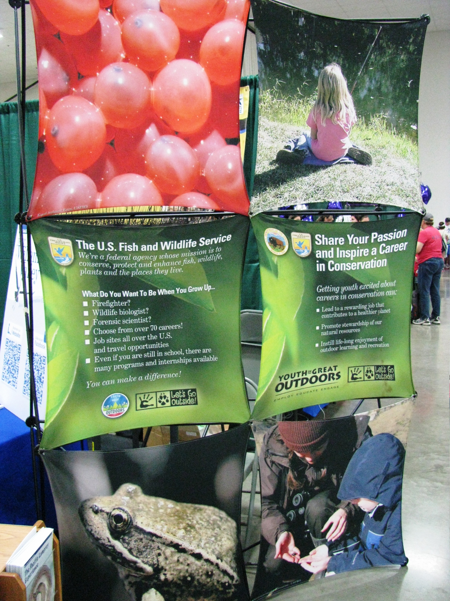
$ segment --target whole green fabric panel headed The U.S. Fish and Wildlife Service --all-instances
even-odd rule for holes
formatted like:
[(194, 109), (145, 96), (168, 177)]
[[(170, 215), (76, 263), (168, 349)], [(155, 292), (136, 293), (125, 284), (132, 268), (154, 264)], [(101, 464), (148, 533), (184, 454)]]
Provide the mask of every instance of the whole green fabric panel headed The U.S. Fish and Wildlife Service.
[(48, 356), (41, 448), (143, 426), (243, 423), (249, 220), (103, 227), (39, 219)]

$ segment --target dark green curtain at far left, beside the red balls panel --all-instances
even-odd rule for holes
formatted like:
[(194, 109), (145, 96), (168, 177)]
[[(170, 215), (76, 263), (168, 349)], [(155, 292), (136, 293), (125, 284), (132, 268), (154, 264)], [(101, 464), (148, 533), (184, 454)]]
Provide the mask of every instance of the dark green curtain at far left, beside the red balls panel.
[[(39, 103), (25, 103), (25, 156), (28, 191), (31, 194), (38, 149)], [(11, 257), (19, 211), (20, 146), (17, 102), (0, 104), (0, 324), (3, 323), (5, 299), (10, 277)]]

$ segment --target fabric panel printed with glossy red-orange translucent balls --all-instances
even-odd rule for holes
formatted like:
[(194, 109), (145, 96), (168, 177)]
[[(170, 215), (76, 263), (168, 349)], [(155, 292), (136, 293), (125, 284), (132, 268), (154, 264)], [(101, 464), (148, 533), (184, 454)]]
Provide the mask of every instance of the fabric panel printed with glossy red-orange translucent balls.
[(163, 205), (248, 213), (249, 0), (31, 0), (31, 10), (40, 143), (29, 218)]

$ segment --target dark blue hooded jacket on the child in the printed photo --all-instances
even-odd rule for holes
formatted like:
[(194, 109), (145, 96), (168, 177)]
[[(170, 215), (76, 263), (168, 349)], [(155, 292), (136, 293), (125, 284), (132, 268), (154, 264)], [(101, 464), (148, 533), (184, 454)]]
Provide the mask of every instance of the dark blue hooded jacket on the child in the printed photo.
[[(401, 537), (401, 481), (404, 447), (391, 434), (367, 439), (353, 454), (338, 491), (343, 501), (365, 498), (380, 503), (366, 513), (359, 536), (331, 545), (328, 572), (400, 564), (407, 557)], [(336, 548), (337, 547), (337, 548)]]

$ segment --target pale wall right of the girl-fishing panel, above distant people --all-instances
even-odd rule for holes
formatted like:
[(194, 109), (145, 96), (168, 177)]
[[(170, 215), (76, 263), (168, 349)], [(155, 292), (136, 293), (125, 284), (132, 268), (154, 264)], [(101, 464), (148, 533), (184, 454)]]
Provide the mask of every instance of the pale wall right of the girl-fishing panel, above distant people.
[(425, 36), (419, 88), (419, 169), (434, 225), (450, 217), (450, 31)]

